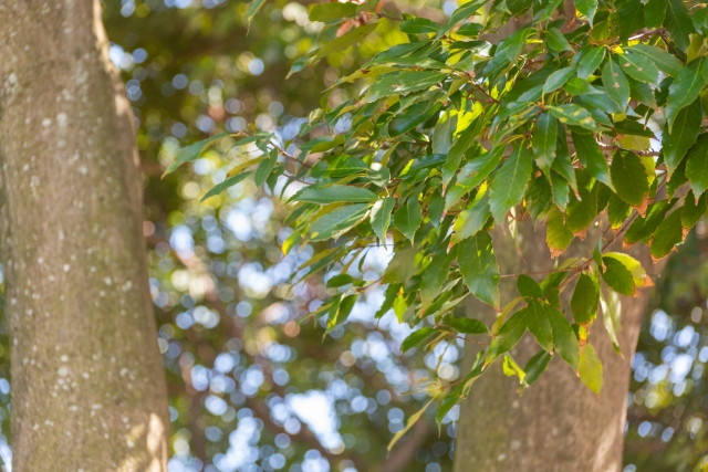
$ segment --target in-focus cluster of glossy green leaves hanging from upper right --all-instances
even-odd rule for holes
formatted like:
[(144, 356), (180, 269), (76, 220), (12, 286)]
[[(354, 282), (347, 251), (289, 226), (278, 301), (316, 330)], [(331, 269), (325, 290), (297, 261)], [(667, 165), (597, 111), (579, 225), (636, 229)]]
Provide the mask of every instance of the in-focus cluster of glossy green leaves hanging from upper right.
[[(256, 0), (249, 14), (262, 4)], [(387, 284), (379, 316), (393, 308), (412, 325), (431, 321), (403, 350), (487, 336), (488, 348), (462, 380), (431, 387), (444, 397), (438, 420), (497, 359), (525, 388), (558, 353), (598, 394), (602, 365), (586, 342), (598, 306), (618, 350), (617, 294), (652, 285), (637, 260), (611, 245), (643, 243), (662, 259), (706, 212), (708, 9), (688, 10), (680, 0), (577, 0), (566, 24), (554, 15), (561, 0), (472, 0), (439, 24), (392, 17), (379, 4), (311, 9), (312, 21), (326, 23), (320, 46), (295, 61), (291, 74), (358, 43), (382, 22), (397, 24), (407, 41), (325, 91), (322, 108), (292, 140), (254, 127), (240, 133), (235, 147), (252, 158), (205, 198), (244, 178), (290, 192), (287, 223), (294, 231), (283, 252), (322, 241), (299, 276), (342, 265), (327, 282), (339, 294), (310, 315), (325, 317), (327, 331), (346, 321), (366, 287)], [(511, 21), (520, 28), (500, 34)], [(361, 93), (330, 107), (335, 87)], [(226, 136), (233, 135), (183, 148), (168, 172)], [(500, 274), (494, 227), (511, 222), (513, 231), (513, 221), (525, 217), (543, 223), (558, 258), (602, 213), (613, 231), (586, 258), (556, 264), (540, 283)], [(347, 273), (379, 244), (393, 251), (379, 280)], [(517, 277), (518, 298), (500, 298), (503, 276)], [(561, 293), (571, 287), (563, 306)], [(491, 327), (456, 317), (469, 295), (498, 312)], [(510, 352), (527, 329), (540, 350), (521, 368)]]

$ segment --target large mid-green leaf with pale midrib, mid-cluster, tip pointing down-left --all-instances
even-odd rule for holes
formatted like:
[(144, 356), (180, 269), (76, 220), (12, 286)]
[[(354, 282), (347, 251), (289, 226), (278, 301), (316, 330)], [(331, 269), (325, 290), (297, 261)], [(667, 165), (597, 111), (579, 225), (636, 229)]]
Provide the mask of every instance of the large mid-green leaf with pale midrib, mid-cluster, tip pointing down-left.
[(521, 202), (531, 170), (531, 154), (523, 144), (517, 145), (491, 182), (489, 203), (496, 221), (504, 221), (509, 209)]

